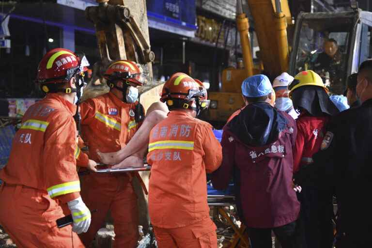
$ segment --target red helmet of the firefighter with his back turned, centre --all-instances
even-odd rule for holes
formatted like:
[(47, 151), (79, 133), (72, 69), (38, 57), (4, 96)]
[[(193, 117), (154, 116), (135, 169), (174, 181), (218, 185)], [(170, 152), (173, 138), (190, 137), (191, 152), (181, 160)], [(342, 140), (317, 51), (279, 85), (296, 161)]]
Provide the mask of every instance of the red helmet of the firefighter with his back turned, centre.
[(185, 73), (176, 73), (164, 84), (160, 101), (171, 107), (175, 105), (175, 100), (178, 100), (181, 106), (186, 108), (185, 106), (189, 106), (188, 103), (196, 99), (195, 104), (201, 109), (206, 109), (209, 106), (207, 98), (207, 91), (200, 80), (193, 79)]

